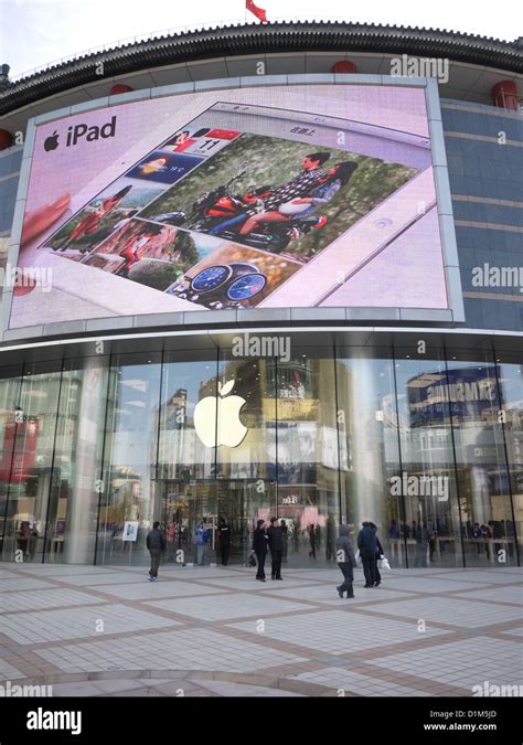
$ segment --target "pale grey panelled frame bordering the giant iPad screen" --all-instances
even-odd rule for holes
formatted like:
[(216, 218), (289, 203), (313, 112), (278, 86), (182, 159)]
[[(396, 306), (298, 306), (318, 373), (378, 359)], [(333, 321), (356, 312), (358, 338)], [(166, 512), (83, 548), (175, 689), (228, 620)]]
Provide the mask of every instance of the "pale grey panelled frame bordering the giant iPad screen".
[[(65, 117), (74, 116), (97, 109), (110, 108), (121, 104), (159, 97), (186, 95), (190, 93), (212, 92), (218, 89), (246, 88), (255, 86), (298, 86), (298, 85), (376, 85), (405, 86), (424, 88), (427, 108), (427, 120), (430, 137), (430, 152), (435, 189), (437, 195), (437, 214), (441, 236), (444, 270), (448, 309), (427, 308), (372, 308), (372, 307), (340, 307), (340, 308), (267, 308), (267, 309), (237, 309), (237, 310), (194, 310), (188, 312), (174, 311), (170, 313), (157, 312), (140, 316), (118, 316), (114, 318), (85, 319), (73, 321), (55, 321), (44, 326), (9, 328), (13, 288), (7, 287), (0, 308), (0, 342), (12, 342), (30, 339), (52, 339), (56, 337), (72, 337), (93, 333), (137, 331), (151, 327), (192, 328), (198, 326), (220, 328), (247, 326), (249, 323), (267, 323), (275, 321), (290, 321), (300, 326), (333, 321), (343, 324), (366, 323), (397, 323), (398, 327), (412, 326), (420, 322), (429, 327), (456, 327), (463, 323), (465, 307), (459, 270), (458, 249), (452, 214), (452, 202), (448, 178), (447, 156), (445, 149), (441, 109), (439, 102), (438, 83), (436, 78), (427, 77), (392, 77), (389, 75), (348, 75), (348, 74), (299, 74), (299, 75), (259, 75), (253, 77), (222, 78), (175, 85), (145, 88), (131, 93), (119, 94), (95, 100), (84, 102), (54, 111), (42, 114), (30, 119), (20, 169), (20, 180), (17, 193), (15, 210), (12, 223), (11, 240), (8, 249), (8, 265), (15, 267), (20, 249), (22, 224), (30, 183), (32, 159), (36, 129)], [(285, 317), (285, 318), (284, 318)]]

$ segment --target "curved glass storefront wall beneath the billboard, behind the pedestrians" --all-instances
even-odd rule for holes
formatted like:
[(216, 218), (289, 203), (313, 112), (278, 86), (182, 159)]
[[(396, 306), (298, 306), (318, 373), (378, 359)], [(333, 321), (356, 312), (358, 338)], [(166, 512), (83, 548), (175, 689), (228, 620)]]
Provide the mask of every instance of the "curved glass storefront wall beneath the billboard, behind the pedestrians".
[(517, 565), (522, 369), (478, 349), (296, 343), (1, 369), (2, 558), (146, 565), (160, 520), (166, 561), (192, 562), (203, 520), (214, 563), (225, 517), (245, 564), (256, 520), (277, 515), (291, 566), (334, 562), (339, 522), (364, 518), (396, 566)]

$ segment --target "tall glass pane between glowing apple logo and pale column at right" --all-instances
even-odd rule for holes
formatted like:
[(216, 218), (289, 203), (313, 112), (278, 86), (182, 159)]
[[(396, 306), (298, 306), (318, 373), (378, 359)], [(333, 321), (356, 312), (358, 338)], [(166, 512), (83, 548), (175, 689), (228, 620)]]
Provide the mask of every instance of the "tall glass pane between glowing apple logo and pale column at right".
[(285, 558), (292, 566), (324, 564), (335, 558), (340, 515), (332, 348), (295, 344), (287, 361), (268, 360), (267, 374), (276, 386), (267, 402), (268, 473), (277, 483), (276, 517), (285, 521)]

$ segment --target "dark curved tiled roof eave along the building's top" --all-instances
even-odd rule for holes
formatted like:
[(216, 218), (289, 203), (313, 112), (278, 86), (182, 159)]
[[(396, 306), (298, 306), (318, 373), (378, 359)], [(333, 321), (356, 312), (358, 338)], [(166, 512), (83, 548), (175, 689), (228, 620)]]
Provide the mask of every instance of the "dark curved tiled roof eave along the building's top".
[(95, 61), (104, 62), (105, 76), (114, 77), (143, 68), (220, 56), (298, 51), (448, 57), (456, 62), (523, 73), (523, 51), (516, 42), (462, 33), (339, 22), (232, 25), (154, 38), (49, 67), (0, 93), (0, 115), (99, 81)]

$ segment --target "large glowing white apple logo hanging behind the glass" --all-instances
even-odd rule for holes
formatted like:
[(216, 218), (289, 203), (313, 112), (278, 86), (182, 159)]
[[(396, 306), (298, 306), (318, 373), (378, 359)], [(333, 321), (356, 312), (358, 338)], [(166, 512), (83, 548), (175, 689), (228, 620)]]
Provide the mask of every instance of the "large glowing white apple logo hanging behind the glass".
[(218, 383), (220, 395), (217, 398), (206, 396), (196, 404), (194, 429), (205, 447), (214, 447), (215, 445), (237, 447), (247, 434), (247, 427), (239, 419), (239, 409), (246, 403), (245, 398), (227, 396), (227, 393), (233, 390), (234, 383), (234, 379), (223, 386)]

